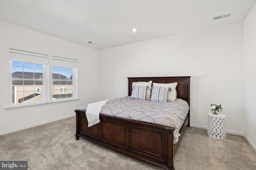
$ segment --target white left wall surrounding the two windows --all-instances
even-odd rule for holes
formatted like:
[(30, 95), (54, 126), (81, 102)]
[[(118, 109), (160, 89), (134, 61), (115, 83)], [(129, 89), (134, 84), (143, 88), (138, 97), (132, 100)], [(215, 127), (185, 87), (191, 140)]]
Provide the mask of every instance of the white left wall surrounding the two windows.
[[(77, 59), (80, 100), (10, 111), (4, 109), (9, 106), (10, 98), (10, 48), (46, 54), (49, 59), (51, 55)], [(81, 107), (80, 102), (96, 102), (98, 63), (99, 51), (96, 49), (0, 21), (0, 134), (74, 116), (74, 109)]]

